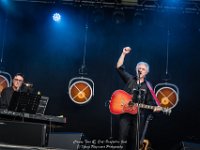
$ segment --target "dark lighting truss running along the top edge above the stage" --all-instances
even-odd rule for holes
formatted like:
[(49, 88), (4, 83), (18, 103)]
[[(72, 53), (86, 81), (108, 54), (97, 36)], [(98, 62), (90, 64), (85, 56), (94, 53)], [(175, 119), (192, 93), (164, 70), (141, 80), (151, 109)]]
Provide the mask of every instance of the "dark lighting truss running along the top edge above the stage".
[(147, 9), (147, 10), (183, 10), (200, 12), (200, 0), (179, 0), (173, 5), (170, 0), (13, 0), (15, 2), (31, 2), (43, 4), (57, 4), (80, 6), (80, 7), (100, 7), (100, 8), (123, 8), (127, 9)]

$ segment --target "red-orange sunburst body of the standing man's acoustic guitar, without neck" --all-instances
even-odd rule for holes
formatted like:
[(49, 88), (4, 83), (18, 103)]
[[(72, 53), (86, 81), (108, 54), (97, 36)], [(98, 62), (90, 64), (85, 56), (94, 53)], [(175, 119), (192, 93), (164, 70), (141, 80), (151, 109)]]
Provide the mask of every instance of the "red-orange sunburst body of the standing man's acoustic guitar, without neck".
[(123, 90), (116, 90), (111, 96), (110, 112), (115, 115), (123, 113), (137, 114), (137, 105), (130, 105), (132, 97)]

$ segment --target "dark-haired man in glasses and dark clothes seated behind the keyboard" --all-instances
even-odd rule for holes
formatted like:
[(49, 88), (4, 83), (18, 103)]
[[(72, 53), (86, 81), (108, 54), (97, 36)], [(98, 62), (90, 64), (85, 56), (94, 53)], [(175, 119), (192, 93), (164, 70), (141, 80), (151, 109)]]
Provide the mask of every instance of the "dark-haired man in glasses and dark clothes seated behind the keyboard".
[(1, 92), (0, 108), (7, 109), (14, 91), (20, 91), (24, 82), (24, 75), (17, 73), (12, 81), (12, 86), (4, 88)]

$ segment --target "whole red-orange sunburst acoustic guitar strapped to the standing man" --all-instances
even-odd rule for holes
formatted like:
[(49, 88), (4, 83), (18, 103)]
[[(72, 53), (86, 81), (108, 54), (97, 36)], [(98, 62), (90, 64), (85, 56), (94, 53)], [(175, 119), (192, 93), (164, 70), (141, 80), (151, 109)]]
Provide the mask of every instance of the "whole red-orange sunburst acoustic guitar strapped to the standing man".
[(123, 113), (129, 113), (132, 115), (137, 114), (138, 112), (138, 106), (140, 108), (145, 109), (155, 109), (156, 107), (159, 107), (162, 112), (170, 114), (171, 110), (167, 108), (163, 108), (160, 106), (150, 106), (145, 104), (137, 104), (132, 102), (132, 95), (129, 93), (123, 91), (123, 90), (116, 90), (111, 96), (109, 109), (110, 112), (114, 115), (119, 115)]

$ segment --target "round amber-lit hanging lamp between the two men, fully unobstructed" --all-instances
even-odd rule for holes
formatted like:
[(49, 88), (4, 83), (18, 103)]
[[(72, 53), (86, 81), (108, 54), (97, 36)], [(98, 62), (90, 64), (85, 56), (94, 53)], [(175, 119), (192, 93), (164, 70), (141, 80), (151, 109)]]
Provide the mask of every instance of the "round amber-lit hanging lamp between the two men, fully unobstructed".
[(68, 85), (68, 93), (74, 103), (88, 103), (94, 96), (94, 82), (85, 77), (72, 78)]

